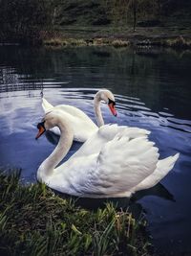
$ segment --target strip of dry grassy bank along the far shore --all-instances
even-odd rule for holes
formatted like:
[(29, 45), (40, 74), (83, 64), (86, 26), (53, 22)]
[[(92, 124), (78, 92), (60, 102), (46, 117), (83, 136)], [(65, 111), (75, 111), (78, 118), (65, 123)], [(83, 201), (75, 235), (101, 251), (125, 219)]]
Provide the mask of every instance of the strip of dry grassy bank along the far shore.
[(127, 27), (65, 27), (43, 40), (45, 46), (163, 46), (175, 49), (190, 49), (189, 30), (178, 28), (138, 28), (132, 32)]

